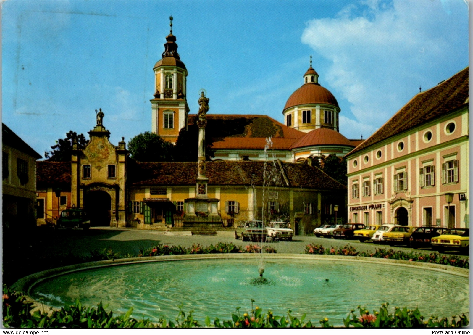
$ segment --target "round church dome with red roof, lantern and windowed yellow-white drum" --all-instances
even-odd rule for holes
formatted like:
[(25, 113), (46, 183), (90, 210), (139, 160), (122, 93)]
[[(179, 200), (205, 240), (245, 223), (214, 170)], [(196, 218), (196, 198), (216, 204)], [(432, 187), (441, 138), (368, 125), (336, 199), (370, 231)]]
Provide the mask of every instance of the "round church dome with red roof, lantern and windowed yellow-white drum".
[(338, 132), (338, 113), (340, 107), (337, 99), (319, 84), (319, 75), (312, 68), (310, 56), (310, 67), (304, 74), (304, 84), (291, 94), (282, 111), (285, 123), (302, 132), (318, 128)]

